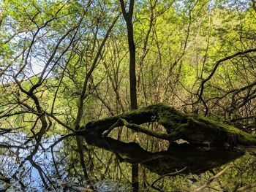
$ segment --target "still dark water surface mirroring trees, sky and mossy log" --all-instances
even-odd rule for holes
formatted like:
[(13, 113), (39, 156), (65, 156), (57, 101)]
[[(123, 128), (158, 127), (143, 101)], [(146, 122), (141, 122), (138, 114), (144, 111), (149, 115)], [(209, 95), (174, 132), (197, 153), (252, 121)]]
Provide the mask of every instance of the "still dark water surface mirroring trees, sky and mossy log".
[(233, 191), (256, 180), (255, 149), (170, 145), (136, 138), (51, 134), (29, 139), (22, 133), (5, 134), (0, 137), (0, 191), (64, 191), (67, 184), (94, 191), (132, 191), (132, 165), (138, 166), (139, 191), (192, 191), (227, 165), (233, 167), (211, 183), (216, 190)]

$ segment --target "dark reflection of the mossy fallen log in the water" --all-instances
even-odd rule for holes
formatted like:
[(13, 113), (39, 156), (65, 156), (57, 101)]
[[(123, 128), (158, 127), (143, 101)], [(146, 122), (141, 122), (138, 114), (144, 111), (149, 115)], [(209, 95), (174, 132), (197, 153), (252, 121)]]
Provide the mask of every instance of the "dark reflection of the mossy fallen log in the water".
[(86, 142), (105, 150), (110, 150), (119, 161), (142, 164), (159, 175), (176, 172), (187, 167), (184, 172), (200, 174), (216, 166), (238, 158), (244, 153), (217, 147), (195, 147), (187, 143), (170, 145), (168, 150), (151, 153), (143, 150), (135, 142), (125, 143), (112, 138), (85, 137)]

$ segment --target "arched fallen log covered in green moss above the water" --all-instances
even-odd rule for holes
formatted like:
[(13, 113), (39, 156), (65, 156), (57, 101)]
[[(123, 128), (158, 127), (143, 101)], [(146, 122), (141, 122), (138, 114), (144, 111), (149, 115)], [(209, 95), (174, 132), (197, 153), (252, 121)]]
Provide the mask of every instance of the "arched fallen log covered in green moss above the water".
[[(140, 126), (143, 123), (157, 122), (165, 127), (167, 134), (150, 131)], [(153, 104), (140, 110), (94, 120), (81, 126), (83, 134), (109, 134), (118, 126), (127, 126), (134, 131), (152, 137), (174, 142), (184, 139), (193, 145), (236, 146), (256, 145), (256, 137), (225, 123), (201, 115), (184, 114), (165, 104)]]

